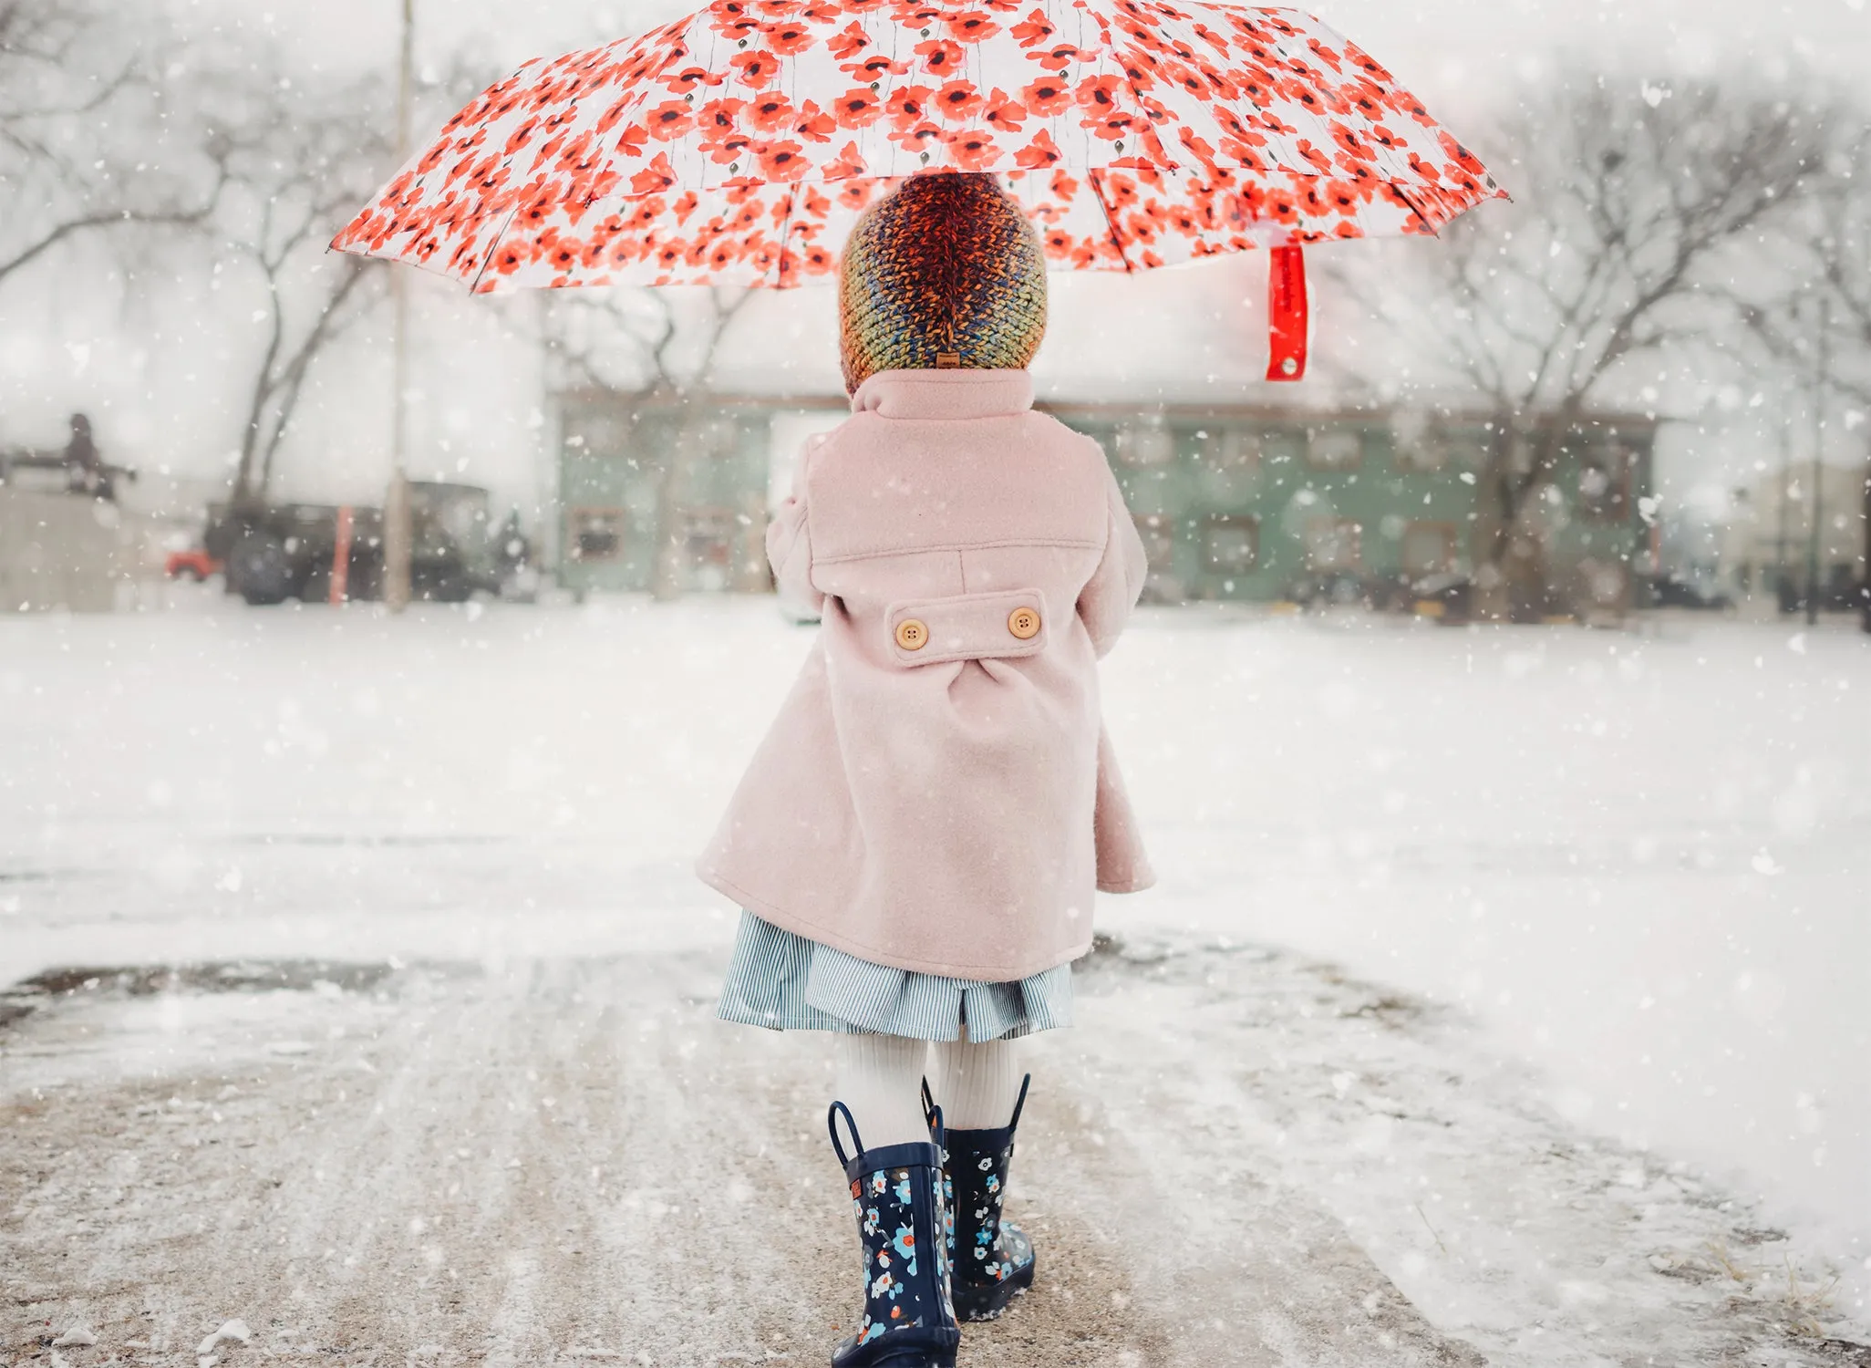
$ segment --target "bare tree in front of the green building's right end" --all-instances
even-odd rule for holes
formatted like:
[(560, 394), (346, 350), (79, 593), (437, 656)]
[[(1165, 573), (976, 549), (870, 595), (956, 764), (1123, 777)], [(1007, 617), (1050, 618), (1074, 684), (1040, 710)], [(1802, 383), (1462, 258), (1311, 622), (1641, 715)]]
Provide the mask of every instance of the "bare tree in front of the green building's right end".
[[(1731, 84), (1675, 90), (1579, 77), (1521, 109), (1506, 138), (1516, 204), (1459, 219), (1420, 277), (1373, 313), (1491, 412), (1474, 546), (1482, 612), (1544, 582), (1532, 511), (1577, 423), (1633, 386), (1639, 361), (1723, 346), (1744, 247), (1800, 193), (1815, 120)], [(1441, 371), (1441, 374), (1435, 374)]]

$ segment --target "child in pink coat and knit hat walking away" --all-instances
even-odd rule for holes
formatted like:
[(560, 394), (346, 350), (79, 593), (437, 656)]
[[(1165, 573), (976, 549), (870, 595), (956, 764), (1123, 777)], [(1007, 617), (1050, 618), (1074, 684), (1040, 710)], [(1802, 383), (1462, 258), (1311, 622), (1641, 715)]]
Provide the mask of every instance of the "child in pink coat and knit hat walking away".
[(836, 1033), (864, 1316), (833, 1364), (934, 1368), (1033, 1282), (1012, 1042), (1070, 1024), (1095, 885), (1151, 883), (1096, 672), (1145, 556), (1098, 444), (1033, 412), (1046, 262), (992, 176), (872, 206), (840, 313), (853, 415), (767, 531), (819, 638), (700, 870), (745, 908), (720, 1016)]

